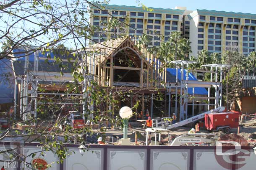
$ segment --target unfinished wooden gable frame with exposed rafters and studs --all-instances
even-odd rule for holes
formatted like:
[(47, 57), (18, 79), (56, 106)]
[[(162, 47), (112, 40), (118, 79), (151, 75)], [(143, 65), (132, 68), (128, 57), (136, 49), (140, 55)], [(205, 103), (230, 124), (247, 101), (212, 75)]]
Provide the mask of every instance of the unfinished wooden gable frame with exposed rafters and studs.
[[(95, 69), (94, 80), (98, 82), (100, 86), (137, 86), (141, 88), (164, 88), (160, 81), (166, 82), (166, 69), (161, 71), (163, 64), (157, 59), (157, 57), (148, 53), (145, 46), (138, 46), (137, 42), (130, 37), (117, 38), (116, 40), (109, 40), (102, 44), (95, 44), (92, 46), (94, 50), (99, 51), (94, 57)], [(135, 57), (128, 55), (129, 59), (133, 61), (134, 67), (115, 66), (114, 58), (120, 51), (131, 51), (136, 54)], [(87, 62), (89, 63), (89, 62)], [(118, 70), (133, 70), (140, 71), (139, 84), (126, 82), (121, 84), (120, 82), (114, 82), (114, 69)], [(154, 81), (152, 81), (154, 80)]]

